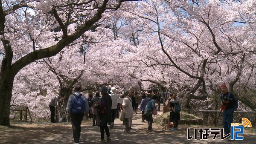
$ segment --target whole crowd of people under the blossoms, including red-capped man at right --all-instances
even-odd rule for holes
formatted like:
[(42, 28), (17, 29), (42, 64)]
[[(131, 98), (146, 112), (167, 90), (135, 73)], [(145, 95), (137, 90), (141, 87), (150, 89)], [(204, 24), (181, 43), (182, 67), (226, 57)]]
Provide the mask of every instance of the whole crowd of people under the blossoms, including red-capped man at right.
[[(115, 118), (118, 118), (120, 110), (124, 109), (124, 132), (131, 133), (133, 115), (134, 113), (138, 112), (138, 106), (140, 106), (139, 109), (142, 112), (141, 122), (144, 123), (147, 121), (148, 127), (146, 132), (151, 132), (153, 123), (153, 109), (160, 111), (160, 104), (164, 102), (166, 107), (170, 108), (170, 122), (173, 123), (171, 124), (173, 126), (171, 130), (178, 130), (180, 111), (177, 112), (177, 108), (175, 106), (179, 105), (180, 99), (175, 93), (169, 93), (169, 98), (167, 98), (166, 93), (160, 92), (159, 90), (152, 91), (151, 89), (148, 89), (138, 95), (138, 92), (134, 92), (134, 89), (125, 89), (118, 95), (115, 87), (108, 89), (106, 86), (102, 86), (102, 88), (99, 89), (95, 95), (89, 94), (86, 97), (80, 93), (81, 86), (75, 86), (74, 90), (75, 93), (70, 95), (67, 102), (67, 112), (71, 118), (74, 144), (79, 144), (81, 121), (83, 120), (84, 116), (92, 119), (92, 126), (100, 127), (101, 138), (99, 139), (99, 142), (105, 142), (111, 140), (109, 128), (114, 127)], [(230, 123), (233, 122), (233, 113), (229, 111), (234, 111), (233, 105), (235, 102), (232, 99), (232, 94), (232, 98), (229, 98), (228, 101), (223, 98), (223, 95), (229, 96), (226, 85), (221, 85), (221, 90), (221, 99), (223, 101), (223, 105), (226, 107), (226, 109), (221, 109), (224, 111), (223, 126), (225, 134), (227, 134), (230, 130)], [(53, 111), (55, 107), (58, 108), (56, 101), (63, 97), (63, 94), (57, 95), (52, 98), (49, 104), (49, 108), (51, 110), (51, 122), (56, 122), (54, 120), (55, 111)], [(107, 136), (106, 140), (105, 133)]]

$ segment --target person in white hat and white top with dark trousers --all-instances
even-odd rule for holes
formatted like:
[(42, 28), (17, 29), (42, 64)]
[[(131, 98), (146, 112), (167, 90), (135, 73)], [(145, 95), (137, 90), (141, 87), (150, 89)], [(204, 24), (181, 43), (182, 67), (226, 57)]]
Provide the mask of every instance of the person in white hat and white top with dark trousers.
[(109, 95), (111, 96), (111, 99), (112, 99), (112, 107), (111, 107), (111, 121), (108, 121), (108, 124), (110, 125), (109, 128), (113, 128), (114, 121), (115, 121), (115, 115), (117, 112), (117, 102), (118, 102), (119, 96), (116, 94), (115, 87), (112, 87), (110, 92), (111, 92), (111, 94), (109, 94)]

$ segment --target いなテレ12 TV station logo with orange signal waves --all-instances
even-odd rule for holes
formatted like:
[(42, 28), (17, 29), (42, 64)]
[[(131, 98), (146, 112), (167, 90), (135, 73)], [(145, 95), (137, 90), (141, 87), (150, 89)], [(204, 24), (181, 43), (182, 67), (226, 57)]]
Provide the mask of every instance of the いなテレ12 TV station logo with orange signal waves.
[(187, 129), (187, 139), (190, 140), (194, 138), (195, 140), (207, 140), (209, 135), (213, 135), (213, 140), (216, 139), (218, 135), (221, 136), (221, 140), (230, 137), (231, 140), (243, 140), (244, 137), (241, 136), (244, 134), (244, 127), (252, 127), (251, 122), (247, 118), (242, 118), (242, 123), (231, 123), (230, 133), (225, 135), (223, 128), (195, 128), (194, 135), (190, 135), (190, 128)]

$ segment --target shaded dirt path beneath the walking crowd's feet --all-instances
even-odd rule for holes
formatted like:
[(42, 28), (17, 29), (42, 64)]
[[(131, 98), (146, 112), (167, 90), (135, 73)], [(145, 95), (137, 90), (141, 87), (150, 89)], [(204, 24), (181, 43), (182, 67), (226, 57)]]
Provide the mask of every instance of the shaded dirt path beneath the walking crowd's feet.
[[(123, 132), (124, 125), (119, 119), (115, 120), (115, 126), (110, 129), (112, 140), (109, 144), (254, 144), (256, 141), (256, 132), (250, 130), (244, 131), (244, 140), (227, 141), (221, 140), (218, 136), (212, 140), (187, 140), (187, 128), (191, 130), (200, 128), (201, 126), (180, 125), (177, 132), (162, 130), (162, 126), (153, 123), (153, 132), (146, 133), (147, 123), (141, 122), (141, 113), (134, 114), (131, 134)], [(81, 141), (80, 144), (98, 143), (100, 138), (99, 127), (92, 127), (92, 120), (84, 120), (82, 122)], [(191, 135), (193, 135), (192, 132)], [(72, 144), (72, 128), (67, 122), (62, 123), (15, 123), (11, 127), (0, 126), (0, 144)]]

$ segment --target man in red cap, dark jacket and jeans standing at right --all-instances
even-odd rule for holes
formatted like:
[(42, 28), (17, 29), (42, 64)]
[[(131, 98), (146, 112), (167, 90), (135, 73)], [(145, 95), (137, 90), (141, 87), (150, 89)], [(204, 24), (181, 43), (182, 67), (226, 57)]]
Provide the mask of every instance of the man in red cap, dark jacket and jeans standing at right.
[[(236, 103), (234, 95), (227, 91), (227, 86), (225, 84), (221, 85), (221, 101), (222, 107), (222, 124), (224, 128), (225, 135), (230, 133), (231, 123), (233, 123), (234, 118), (234, 104)], [(228, 140), (231, 141), (229, 138)]]

